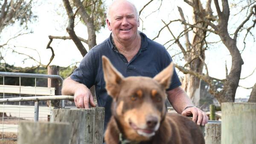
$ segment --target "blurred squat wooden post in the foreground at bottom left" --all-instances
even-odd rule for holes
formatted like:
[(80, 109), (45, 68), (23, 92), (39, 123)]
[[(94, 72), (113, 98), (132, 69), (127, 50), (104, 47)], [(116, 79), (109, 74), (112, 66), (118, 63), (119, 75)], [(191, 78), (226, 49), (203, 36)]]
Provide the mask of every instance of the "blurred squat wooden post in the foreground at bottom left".
[(70, 144), (68, 123), (21, 122), (17, 144)]

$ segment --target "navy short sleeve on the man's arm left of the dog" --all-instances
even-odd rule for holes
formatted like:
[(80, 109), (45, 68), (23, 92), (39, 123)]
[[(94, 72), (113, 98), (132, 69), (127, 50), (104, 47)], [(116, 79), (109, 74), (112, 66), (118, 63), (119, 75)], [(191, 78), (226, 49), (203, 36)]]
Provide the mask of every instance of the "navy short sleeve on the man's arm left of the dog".
[(93, 50), (90, 50), (81, 60), (79, 67), (75, 69), (70, 78), (90, 88), (95, 81), (95, 67)]

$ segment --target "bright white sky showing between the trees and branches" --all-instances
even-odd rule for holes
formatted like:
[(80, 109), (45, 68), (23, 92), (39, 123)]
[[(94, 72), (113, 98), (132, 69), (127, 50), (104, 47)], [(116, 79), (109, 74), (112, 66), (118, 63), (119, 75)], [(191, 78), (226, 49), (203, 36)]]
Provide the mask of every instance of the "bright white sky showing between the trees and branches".
[[(137, 9), (140, 9), (148, 3), (149, 0), (130, 0), (132, 3), (135, 4)], [(37, 0), (36, 5), (33, 7), (33, 12), (38, 16), (36, 22), (29, 24), (29, 28), (32, 29), (33, 33), (28, 35), (23, 35), (15, 40), (10, 40), (9, 45), (11, 47), (15, 46), (15, 49), (19, 52), (26, 52), (26, 54), (33, 55), (37, 60), (39, 60), (39, 56), (41, 59), (41, 63), (46, 65), (49, 62), (51, 57), (51, 50), (46, 49), (47, 43), (49, 42), (49, 35), (53, 36), (68, 36), (66, 32), (67, 27), (67, 15), (66, 11), (63, 8), (61, 0)], [(108, 6), (112, 0), (105, 0), (106, 5)], [(152, 11), (155, 11), (160, 6), (160, 0), (155, 0), (153, 3), (148, 5), (142, 12), (140, 20), (140, 27), (139, 30), (143, 31), (149, 38), (154, 38), (158, 31), (164, 26), (161, 20), (164, 20), (166, 23), (169, 20), (175, 20), (179, 17), (179, 13), (177, 11), (177, 6), (180, 6), (183, 9), (185, 17), (191, 20), (191, 12), (192, 9), (182, 0), (163, 0), (161, 8), (159, 11), (154, 12), (151, 14)], [(214, 8), (212, 8), (214, 11)], [(231, 11), (231, 14), (236, 13)], [(237, 16), (236, 18), (230, 19), (230, 23), (236, 22), (237, 19), (243, 20), (244, 16)], [(237, 25), (237, 24), (236, 24)], [(236, 25), (229, 25), (229, 30), (232, 32)], [(173, 23), (170, 26), (170, 29), (174, 32), (177, 36), (178, 32), (183, 30), (183, 27), (180, 23)], [(25, 30), (23, 30), (25, 31)], [(14, 25), (12, 27), (8, 27), (4, 29), (1, 33), (0, 37), (0, 44), (6, 42), (10, 37), (17, 35), (20, 32), (20, 26)], [(81, 23), (78, 23), (75, 27), (75, 32), (79, 37), (87, 38), (87, 29)], [(234, 31), (233, 31), (234, 32)], [(101, 43), (110, 35), (110, 31), (107, 27), (102, 28), (101, 31), (96, 34), (97, 35), (97, 43)], [(256, 31), (254, 29), (253, 33), (255, 34)], [(170, 33), (165, 29), (155, 41), (158, 43), (165, 43), (166, 41), (170, 40)], [(191, 37), (191, 36), (190, 36)], [(216, 35), (210, 35), (207, 37), (210, 41), (218, 41), (219, 37)], [(182, 39), (181, 39), (182, 40)], [(170, 44), (167, 44), (168, 47)], [(237, 43), (239, 49), (243, 48), (243, 43), (241, 40)], [(75, 44), (72, 40), (56, 40), (54, 39), (51, 46), (55, 52), (55, 58), (53, 59), (51, 65), (58, 65), (58, 66), (69, 66), (72, 63), (76, 63), (81, 61), (82, 56), (78, 49), (76, 48)], [(87, 48), (87, 45), (84, 44)], [(244, 65), (242, 66), (241, 78), (250, 75), (253, 72), (253, 69), (256, 68), (256, 49), (255, 49), (255, 42), (252, 39), (247, 40), (246, 49), (242, 53), (242, 58), (244, 60)], [(24, 48), (28, 47), (28, 48)], [(31, 50), (36, 49), (38, 52)], [(173, 45), (171, 48), (168, 49), (170, 55), (175, 55), (177, 51), (177, 46)], [(38, 55), (38, 53), (40, 55)], [(11, 49), (8, 49), (6, 52), (6, 62), (9, 64), (14, 64), (15, 66), (32, 66), (35, 65), (32, 61), (26, 61), (25, 63), (22, 62), (23, 57), (20, 55), (15, 55), (12, 53)], [(180, 57), (173, 58), (175, 63), (183, 64), (184, 61)], [(221, 44), (217, 43), (212, 46), (212, 48), (206, 51), (206, 63), (209, 69), (209, 75), (211, 77), (223, 79), (225, 78), (225, 61), (227, 62), (227, 67), (230, 69), (231, 66), (231, 56), (227, 51), (227, 48)], [(178, 75), (183, 75), (182, 72), (179, 72)], [(256, 73), (245, 80), (240, 80), (239, 85), (244, 87), (251, 87), (255, 84), (256, 80)], [(236, 93), (236, 98), (245, 97), (250, 95), (251, 90), (243, 89), (241, 87), (238, 88)]]

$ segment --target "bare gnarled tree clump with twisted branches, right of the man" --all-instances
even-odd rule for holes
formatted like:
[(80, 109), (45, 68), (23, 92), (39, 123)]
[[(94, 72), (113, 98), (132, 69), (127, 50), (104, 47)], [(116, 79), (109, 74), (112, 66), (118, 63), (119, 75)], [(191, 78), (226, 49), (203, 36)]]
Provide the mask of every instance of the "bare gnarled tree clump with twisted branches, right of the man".
[[(231, 16), (230, 4), (227, 0), (221, 0), (221, 5), (218, 0), (213, 0), (214, 5), (212, 5), (212, 0), (206, 0), (206, 2), (204, 1), (205, 6), (203, 6), (201, 0), (184, 0), (184, 2), (192, 7), (193, 22), (191, 23), (186, 20), (182, 8), (178, 8), (181, 18), (170, 20), (169, 23), (162, 20), (165, 26), (160, 29), (157, 37), (159, 37), (164, 28), (167, 28), (173, 38), (166, 43), (173, 42), (180, 48), (180, 53), (183, 55), (186, 64), (184, 66), (175, 66), (186, 74), (182, 86), (192, 100), (196, 99), (196, 95), (199, 94), (198, 89), (200, 88), (200, 81), (204, 80), (209, 84), (209, 92), (215, 95), (215, 98), (217, 98), (220, 103), (234, 101), (236, 89), (239, 86), (241, 66), (244, 63), (241, 58), (241, 52), (243, 50), (240, 51), (238, 49), (237, 38), (240, 36), (241, 39), (242, 37), (245, 43), (248, 34), (255, 35), (252, 33), (252, 30), (256, 24), (256, 1), (248, 0), (247, 2), (235, 2), (237, 5), (247, 3), (246, 6), (242, 7), (241, 11), (239, 11), (247, 11), (247, 13), (233, 32), (228, 29)], [(215, 6), (216, 12), (212, 12), (211, 6)], [(174, 22), (180, 22), (183, 25), (183, 31), (180, 32), (178, 36), (175, 36), (174, 32), (169, 28)], [(236, 22), (239, 23), (239, 21)], [(245, 32), (245, 34), (243, 34), (243, 32)], [(191, 36), (190, 33), (193, 34), (192, 39), (189, 39), (189, 36)], [(209, 36), (218, 36), (228, 49), (232, 58), (231, 69), (229, 71), (226, 66), (225, 79), (209, 76), (207, 64), (205, 63), (205, 51), (209, 49), (209, 41), (207, 40)], [(203, 72), (204, 69), (206, 72)], [(215, 86), (216, 82), (222, 83), (223, 88), (218, 89)]]

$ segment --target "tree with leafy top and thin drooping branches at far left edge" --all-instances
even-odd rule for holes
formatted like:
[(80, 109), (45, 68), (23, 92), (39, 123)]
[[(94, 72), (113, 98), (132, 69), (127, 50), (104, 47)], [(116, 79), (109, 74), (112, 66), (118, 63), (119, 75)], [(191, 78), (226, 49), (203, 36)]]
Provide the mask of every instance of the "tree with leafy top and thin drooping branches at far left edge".
[[(20, 26), (20, 32), (17, 32), (17, 35), (9, 38), (9, 40), (7, 40), (5, 43), (0, 44), (0, 67), (2, 67), (5, 71), (25, 72), (29, 71), (29, 69), (35, 69), (36, 67), (40, 66), (41, 62), (33, 58), (33, 56), (16, 51), (16, 46), (9, 46), (10, 40), (32, 33), (32, 31), (29, 30), (28, 23), (32, 23), (32, 21), (35, 21), (37, 18), (37, 16), (32, 13), (32, 0), (0, 0), (0, 7), (0, 33), (3, 31), (3, 29), (6, 29), (7, 27), (10, 28), (15, 24), (19, 24)], [(22, 31), (24, 29), (27, 32)], [(25, 56), (26, 58), (24, 58), (23, 61), (28, 59), (34, 60), (36, 63), (38, 63), (38, 65), (26, 69), (12, 69), (12, 66), (9, 66), (5, 61), (4, 52), (8, 49), (12, 49), (12, 53)], [(31, 48), (26, 49), (36, 51), (35, 49)]]

